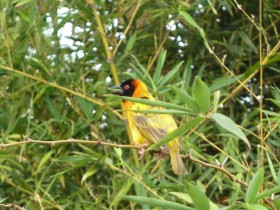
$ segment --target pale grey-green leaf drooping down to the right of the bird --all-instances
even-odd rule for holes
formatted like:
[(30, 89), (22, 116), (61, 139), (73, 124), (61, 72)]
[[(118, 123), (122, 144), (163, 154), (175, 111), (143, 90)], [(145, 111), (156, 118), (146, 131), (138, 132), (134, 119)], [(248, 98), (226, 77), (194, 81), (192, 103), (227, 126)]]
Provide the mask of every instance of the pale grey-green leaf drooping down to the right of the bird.
[(249, 149), (251, 149), (251, 145), (250, 145), (247, 137), (245, 136), (243, 131), (232, 121), (232, 119), (230, 119), (229, 117), (227, 117), (223, 114), (220, 114), (220, 113), (213, 113), (211, 115), (211, 117), (221, 127), (223, 127), (230, 133), (232, 133), (232, 134), (236, 135), (237, 137), (239, 137), (240, 139), (242, 139), (247, 144)]

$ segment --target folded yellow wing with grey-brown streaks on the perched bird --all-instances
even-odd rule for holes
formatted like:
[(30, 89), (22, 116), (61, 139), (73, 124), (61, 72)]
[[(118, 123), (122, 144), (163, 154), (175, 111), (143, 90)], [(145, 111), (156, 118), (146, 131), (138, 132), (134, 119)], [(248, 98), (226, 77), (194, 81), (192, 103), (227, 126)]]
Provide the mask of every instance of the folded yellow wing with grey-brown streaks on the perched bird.
[[(162, 107), (153, 107), (135, 103), (132, 110), (160, 110)], [(166, 134), (177, 128), (174, 119), (169, 114), (149, 114), (132, 112), (135, 126), (139, 132), (150, 142), (155, 143)]]

